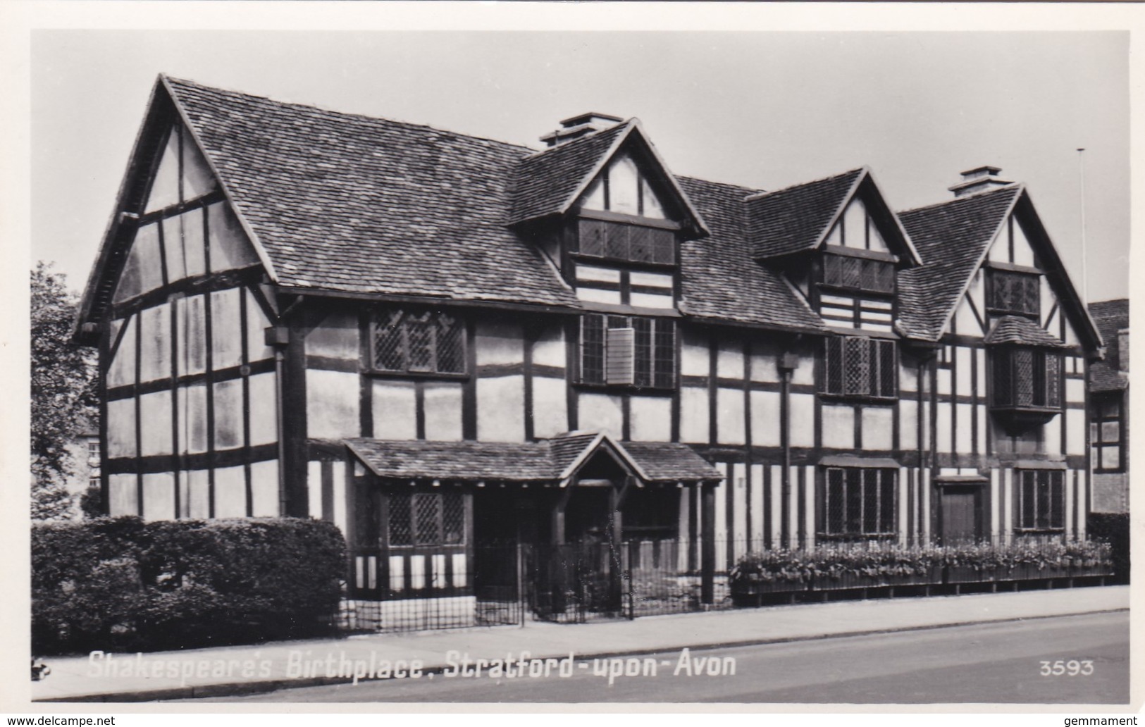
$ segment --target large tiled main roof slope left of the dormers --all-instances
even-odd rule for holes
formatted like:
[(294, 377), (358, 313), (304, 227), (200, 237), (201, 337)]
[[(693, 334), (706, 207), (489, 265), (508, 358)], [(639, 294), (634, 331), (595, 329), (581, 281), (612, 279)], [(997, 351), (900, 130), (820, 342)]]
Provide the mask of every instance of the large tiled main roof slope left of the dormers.
[(528, 148), (166, 82), (279, 284), (576, 305), (506, 227)]

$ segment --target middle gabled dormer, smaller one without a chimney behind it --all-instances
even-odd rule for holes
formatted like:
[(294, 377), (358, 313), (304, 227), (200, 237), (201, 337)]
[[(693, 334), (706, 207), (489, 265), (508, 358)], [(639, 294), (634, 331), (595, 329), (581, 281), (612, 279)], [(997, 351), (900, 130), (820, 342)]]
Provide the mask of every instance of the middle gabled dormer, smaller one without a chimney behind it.
[(749, 242), (823, 322), (891, 333), (897, 277), (919, 263), (867, 168), (747, 199)]

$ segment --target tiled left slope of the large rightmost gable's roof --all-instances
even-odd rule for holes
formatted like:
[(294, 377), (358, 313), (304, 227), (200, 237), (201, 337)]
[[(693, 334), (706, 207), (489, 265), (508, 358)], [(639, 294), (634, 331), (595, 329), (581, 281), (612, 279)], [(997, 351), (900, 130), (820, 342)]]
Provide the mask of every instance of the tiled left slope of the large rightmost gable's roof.
[(902, 227), (923, 260), (899, 274), (899, 327), (909, 337), (937, 340), (978, 269), (1020, 185), (968, 195), (900, 212)]

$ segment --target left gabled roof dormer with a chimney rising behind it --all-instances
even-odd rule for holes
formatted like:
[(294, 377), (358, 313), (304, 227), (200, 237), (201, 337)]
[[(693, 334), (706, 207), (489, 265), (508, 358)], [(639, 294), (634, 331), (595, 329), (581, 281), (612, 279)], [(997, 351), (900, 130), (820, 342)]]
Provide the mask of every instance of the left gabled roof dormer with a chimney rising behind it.
[(587, 113), (521, 160), (512, 222), (585, 303), (674, 309), (680, 243), (708, 235), (635, 119)]

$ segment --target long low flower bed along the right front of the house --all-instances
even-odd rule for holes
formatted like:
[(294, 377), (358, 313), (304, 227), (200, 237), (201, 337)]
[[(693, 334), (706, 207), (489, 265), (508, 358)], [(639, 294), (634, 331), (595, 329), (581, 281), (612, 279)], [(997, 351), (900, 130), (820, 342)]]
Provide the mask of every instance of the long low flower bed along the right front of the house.
[(1087, 540), (1009, 545), (901, 546), (827, 544), (796, 551), (748, 553), (728, 572), (739, 603), (793, 591), (1012, 582), (1103, 576), (1112, 572), (1110, 547)]

